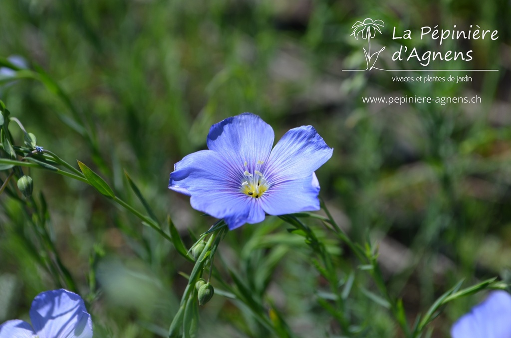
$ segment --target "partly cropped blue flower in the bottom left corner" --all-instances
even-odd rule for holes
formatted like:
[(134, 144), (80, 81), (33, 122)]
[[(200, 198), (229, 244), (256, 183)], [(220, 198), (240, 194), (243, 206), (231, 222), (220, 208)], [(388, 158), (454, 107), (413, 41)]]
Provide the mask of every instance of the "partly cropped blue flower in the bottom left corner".
[(64, 289), (40, 293), (30, 307), (32, 325), (19, 319), (0, 325), (0, 338), (91, 338), (83, 300)]

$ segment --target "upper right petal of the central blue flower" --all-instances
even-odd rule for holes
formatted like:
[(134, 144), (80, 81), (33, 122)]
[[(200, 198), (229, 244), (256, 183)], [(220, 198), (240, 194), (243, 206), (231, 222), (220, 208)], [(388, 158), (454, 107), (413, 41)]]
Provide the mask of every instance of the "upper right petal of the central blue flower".
[(273, 185), (281, 181), (310, 178), (317, 168), (332, 157), (332, 152), (333, 149), (327, 146), (314, 127), (293, 128), (282, 136), (271, 151), (266, 180)]

